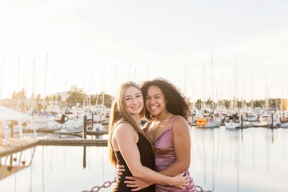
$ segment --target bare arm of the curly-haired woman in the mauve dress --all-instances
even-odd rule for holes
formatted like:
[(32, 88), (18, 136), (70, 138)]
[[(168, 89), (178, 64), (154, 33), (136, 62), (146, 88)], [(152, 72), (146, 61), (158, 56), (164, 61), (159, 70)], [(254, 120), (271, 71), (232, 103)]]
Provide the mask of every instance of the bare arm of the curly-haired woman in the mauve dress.
[(167, 176), (182, 173), (190, 166), (191, 139), (187, 121), (181, 117), (176, 118), (173, 121), (172, 132), (176, 161), (159, 172)]

